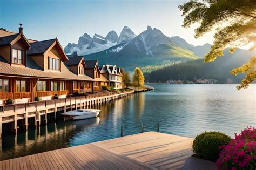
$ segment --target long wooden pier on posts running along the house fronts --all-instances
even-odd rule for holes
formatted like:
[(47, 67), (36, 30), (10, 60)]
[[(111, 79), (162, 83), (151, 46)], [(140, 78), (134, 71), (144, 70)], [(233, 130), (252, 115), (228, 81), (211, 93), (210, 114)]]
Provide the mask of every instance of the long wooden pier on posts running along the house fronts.
[[(4, 105), (0, 111), (0, 138), (2, 135), (2, 124), (14, 122), (14, 132), (17, 133), (17, 121), (23, 120), (25, 129), (28, 130), (28, 119), (35, 118), (33, 124), (40, 126), (41, 121), (47, 124), (47, 115), (58, 111), (77, 110), (78, 108), (95, 108), (96, 106), (109, 101), (120, 99), (134, 92), (124, 92), (119, 94), (93, 94), (90, 96), (79, 96), (65, 99), (54, 99), (45, 101), (34, 101), (31, 103)], [(43, 116), (43, 120), (41, 120)]]

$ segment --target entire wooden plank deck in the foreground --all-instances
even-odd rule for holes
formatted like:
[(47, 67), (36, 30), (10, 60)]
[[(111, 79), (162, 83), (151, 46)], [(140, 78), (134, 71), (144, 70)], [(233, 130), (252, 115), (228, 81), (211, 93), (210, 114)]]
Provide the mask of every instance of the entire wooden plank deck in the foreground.
[(0, 169), (215, 169), (191, 157), (193, 139), (145, 132), (0, 161)]

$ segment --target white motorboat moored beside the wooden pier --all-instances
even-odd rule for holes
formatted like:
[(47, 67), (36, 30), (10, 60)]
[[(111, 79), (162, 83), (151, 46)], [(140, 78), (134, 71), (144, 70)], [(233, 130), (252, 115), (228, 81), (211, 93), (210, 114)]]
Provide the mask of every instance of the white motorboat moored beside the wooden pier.
[(64, 120), (81, 120), (81, 119), (89, 119), (95, 118), (99, 115), (99, 109), (79, 109), (75, 111), (69, 111), (66, 113), (62, 113)]

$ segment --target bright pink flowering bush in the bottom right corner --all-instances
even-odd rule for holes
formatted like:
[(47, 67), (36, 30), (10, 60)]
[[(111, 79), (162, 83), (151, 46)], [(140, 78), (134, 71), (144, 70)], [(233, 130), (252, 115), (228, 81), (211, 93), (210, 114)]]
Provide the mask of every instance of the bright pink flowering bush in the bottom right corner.
[(256, 169), (256, 128), (247, 127), (226, 146), (220, 147), (219, 169)]

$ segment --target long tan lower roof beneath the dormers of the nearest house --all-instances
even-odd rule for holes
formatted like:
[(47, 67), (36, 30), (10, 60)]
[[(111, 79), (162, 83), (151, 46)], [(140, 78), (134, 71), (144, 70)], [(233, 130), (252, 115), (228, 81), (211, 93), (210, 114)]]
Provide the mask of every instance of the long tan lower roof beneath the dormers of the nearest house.
[[(0, 57), (2, 58), (2, 57)], [(34, 63), (35, 64), (35, 63)], [(33, 65), (33, 63), (30, 63)], [(84, 80), (93, 81), (89, 76), (77, 76), (76, 74), (69, 71), (68, 67), (62, 63), (62, 72), (43, 71), (30, 67), (14, 67), (9, 63), (4, 62), (0, 59), (0, 73), (1, 76), (15, 76), (15, 77), (32, 77), (32, 78), (49, 78), (49, 79), (66, 79), (66, 80)]]

